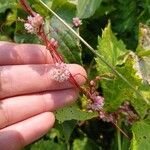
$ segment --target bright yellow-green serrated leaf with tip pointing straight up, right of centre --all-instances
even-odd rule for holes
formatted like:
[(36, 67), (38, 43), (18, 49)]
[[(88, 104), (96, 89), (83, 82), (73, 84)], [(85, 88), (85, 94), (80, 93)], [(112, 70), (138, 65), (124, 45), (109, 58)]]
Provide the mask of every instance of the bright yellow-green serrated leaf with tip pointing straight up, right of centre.
[[(116, 66), (121, 64), (123, 60), (120, 59), (122, 55), (128, 51), (122, 41), (118, 41), (111, 31), (110, 23), (104, 29), (102, 38), (98, 39), (98, 53), (103, 56), (108, 64)], [(99, 58), (96, 59), (99, 74), (111, 72), (110, 68), (106, 66)]]

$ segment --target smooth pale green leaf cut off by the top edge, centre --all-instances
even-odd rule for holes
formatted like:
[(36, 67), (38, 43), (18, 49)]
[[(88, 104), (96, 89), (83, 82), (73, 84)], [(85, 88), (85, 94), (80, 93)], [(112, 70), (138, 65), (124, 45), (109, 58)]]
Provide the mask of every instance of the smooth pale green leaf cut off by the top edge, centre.
[(78, 0), (77, 16), (81, 19), (94, 15), (102, 0)]

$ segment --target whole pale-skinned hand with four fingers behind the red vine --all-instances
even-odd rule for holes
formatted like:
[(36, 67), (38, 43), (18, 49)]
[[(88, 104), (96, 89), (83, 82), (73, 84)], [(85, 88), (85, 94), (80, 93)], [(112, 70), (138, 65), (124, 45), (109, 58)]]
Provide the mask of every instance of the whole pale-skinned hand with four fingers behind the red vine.
[[(79, 91), (69, 81), (51, 80), (53, 65), (44, 46), (0, 42), (0, 149), (20, 150), (54, 125), (53, 112), (73, 103)], [(72, 75), (85, 70), (69, 64)], [(83, 76), (75, 76), (78, 84)]]

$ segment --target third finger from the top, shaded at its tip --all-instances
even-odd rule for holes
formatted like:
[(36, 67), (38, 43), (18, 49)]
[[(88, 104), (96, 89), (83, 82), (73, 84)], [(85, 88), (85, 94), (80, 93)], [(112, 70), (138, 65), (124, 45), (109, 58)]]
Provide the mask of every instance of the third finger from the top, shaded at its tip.
[(0, 105), (0, 129), (37, 114), (54, 111), (75, 101), (77, 96), (76, 90), (68, 89), (2, 100)]

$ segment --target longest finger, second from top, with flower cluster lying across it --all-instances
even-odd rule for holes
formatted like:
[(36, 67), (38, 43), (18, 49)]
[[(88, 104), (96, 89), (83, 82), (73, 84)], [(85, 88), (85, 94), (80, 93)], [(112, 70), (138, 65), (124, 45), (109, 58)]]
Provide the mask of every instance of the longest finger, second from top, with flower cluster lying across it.
[[(72, 75), (82, 74), (85, 70), (79, 65), (68, 65)], [(49, 90), (67, 89), (73, 87), (69, 81), (59, 83), (51, 79), (49, 71), (52, 65), (16, 65), (0, 67), (0, 98), (15, 95), (36, 93)], [(85, 78), (75, 77), (78, 84), (83, 84)]]

